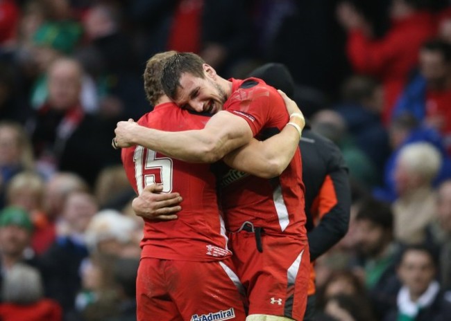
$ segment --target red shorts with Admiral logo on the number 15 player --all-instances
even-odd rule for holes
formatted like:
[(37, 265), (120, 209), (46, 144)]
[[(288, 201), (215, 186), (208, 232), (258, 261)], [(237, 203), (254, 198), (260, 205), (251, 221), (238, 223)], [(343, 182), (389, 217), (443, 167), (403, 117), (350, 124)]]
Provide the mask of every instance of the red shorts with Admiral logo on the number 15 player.
[(136, 281), (137, 320), (244, 321), (241, 284), (232, 266), (230, 258), (214, 262), (142, 258)]

